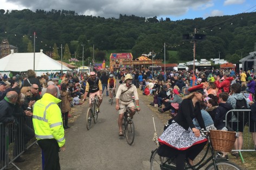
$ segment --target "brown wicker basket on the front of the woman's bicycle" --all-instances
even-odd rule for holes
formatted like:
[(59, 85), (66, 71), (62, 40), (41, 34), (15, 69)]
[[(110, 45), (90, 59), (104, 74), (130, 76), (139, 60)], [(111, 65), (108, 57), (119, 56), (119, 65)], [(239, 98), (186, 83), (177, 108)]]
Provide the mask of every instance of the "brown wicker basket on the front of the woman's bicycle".
[(235, 132), (210, 130), (210, 141), (215, 151), (231, 152), (235, 139)]

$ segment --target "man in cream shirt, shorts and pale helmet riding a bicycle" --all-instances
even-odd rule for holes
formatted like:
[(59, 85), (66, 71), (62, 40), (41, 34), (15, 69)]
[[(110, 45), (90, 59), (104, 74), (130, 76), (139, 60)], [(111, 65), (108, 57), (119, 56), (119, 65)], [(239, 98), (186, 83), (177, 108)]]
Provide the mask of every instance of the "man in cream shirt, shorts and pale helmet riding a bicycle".
[[(116, 94), (116, 110), (119, 110), (119, 116), (118, 116), (118, 127), (119, 127), (119, 136), (123, 135), (122, 131), (122, 119), (124, 117), (125, 109), (123, 107), (128, 106), (130, 107), (131, 114), (130, 118), (133, 118), (133, 115), (135, 115), (136, 109), (140, 110), (139, 108), (139, 97), (137, 88), (134, 84), (132, 84), (132, 76), (130, 74), (127, 74), (124, 79), (125, 83), (121, 84), (118, 87), (117, 94)], [(135, 102), (136, 102), (136, 108), (132, 100), (132, 96), (135, 96)], [(119, 104), (120, 100), (120, 104)]]

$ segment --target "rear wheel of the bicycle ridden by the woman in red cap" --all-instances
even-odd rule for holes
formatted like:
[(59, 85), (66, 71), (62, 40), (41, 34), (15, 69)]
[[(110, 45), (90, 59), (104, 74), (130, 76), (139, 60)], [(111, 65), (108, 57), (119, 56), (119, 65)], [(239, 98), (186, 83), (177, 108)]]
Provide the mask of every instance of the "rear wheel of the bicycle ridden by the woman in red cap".
[(160, 169), (176, 169), (176, 165), (171, 161), (171, 159), (157, 154), (157, 149), (152, 151), (150, 157), (150, 169), (160, 170)]

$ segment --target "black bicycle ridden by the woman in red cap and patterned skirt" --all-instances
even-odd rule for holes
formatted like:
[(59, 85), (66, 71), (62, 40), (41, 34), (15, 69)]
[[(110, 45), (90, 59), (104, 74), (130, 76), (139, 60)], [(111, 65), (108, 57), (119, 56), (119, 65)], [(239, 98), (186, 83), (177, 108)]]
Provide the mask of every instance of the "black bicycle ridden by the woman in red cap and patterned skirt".
[[(208, 139), (208, 146), (206, 149), (206, 153), (199, 160), (199, 162), (197, 162), (197, 164), (195, 164), (194, 166), (191, 166), (188, 160), (185, 160), (185, 169), (201, 169), (204, 166), (207, 166), (207, 164), (210, 161), (213, 161), (213, 162), (210, 163), (205, 169), (228, 169), (228, 170), (241, 169), (238, 165), (234, 164), (233, 162), (225, 161), (222, 159), (216, 159), (212, 141), (209, 138), (210, 132), (208, 130), (203, 130), (203, 129), (200, 131), (201, 131), (201, 135)], [(157, 154), (157, 149), (155, 149), (155, 151), (152, 151), (152, 154), (150, 157), (150, 169), (151, 170), (176, 169), (176, 158), (175, 157), (167, 158), (167, 157), (159, 156)], [(209, 158), (207, 158), (209, 151), (210, 151), (210, 156)]]

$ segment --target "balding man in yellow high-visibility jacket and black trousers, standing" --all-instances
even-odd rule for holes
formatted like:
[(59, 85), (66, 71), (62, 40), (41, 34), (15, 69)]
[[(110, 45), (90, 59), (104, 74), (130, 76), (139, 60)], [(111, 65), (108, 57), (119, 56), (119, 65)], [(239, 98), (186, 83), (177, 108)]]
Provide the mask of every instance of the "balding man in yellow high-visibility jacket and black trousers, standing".
[(57, 103), (57, 88), (50, 85), (42, 99), (36, 101), (33, 110), (33, 125), (37, 143), (44, 155), (44, 167), (47, 170), (59, 170), (59, 151), (65, 151), (65, 134), (62, 125), (61, 110)]

